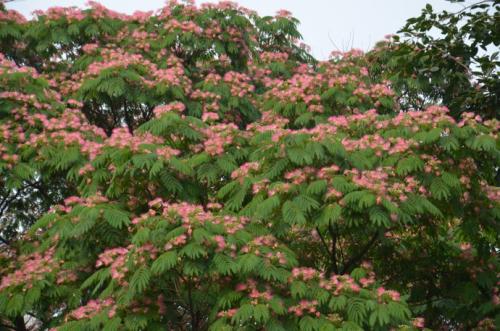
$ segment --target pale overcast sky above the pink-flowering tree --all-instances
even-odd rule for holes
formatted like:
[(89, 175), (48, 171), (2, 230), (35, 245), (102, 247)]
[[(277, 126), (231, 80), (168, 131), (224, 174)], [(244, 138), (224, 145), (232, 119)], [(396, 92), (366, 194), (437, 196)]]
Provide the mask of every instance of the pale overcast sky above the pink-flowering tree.
[[(36, 9), (52, 6), (83, 7), (86, 0), (17, 0), (7, 4), (29, 16)], [(108, 8), (124, 13), (135, 10), (154, 10), (164, 0), (101, 0)], [(218, 2), (218, 1), (200, 1)], [(386, 34), (395, 33), (406, 19), (419, 15), (426, 3), (435, 9), (455, 11), (462, 8), (445, 0), (238, 0), (240, 5), (251, 8), (261, 15), (273, 15), (279, 9), (287, 9), (301, 24), (299, 30), (305, 43), (319, 59), (326, 59), (332, 50), (350, 48), (370, 49)]]

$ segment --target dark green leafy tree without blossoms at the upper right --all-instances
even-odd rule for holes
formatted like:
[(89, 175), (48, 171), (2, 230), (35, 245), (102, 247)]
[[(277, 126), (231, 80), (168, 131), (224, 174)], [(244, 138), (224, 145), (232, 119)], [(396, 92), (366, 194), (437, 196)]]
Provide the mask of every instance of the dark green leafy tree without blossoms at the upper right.
[(464, 112), (498, 118), (499, 9), (498, 0), (440, 13), (428, 4), (370, 52), (373, 73), (391, 81), (403, 109), (439, 103), (456, 119)]

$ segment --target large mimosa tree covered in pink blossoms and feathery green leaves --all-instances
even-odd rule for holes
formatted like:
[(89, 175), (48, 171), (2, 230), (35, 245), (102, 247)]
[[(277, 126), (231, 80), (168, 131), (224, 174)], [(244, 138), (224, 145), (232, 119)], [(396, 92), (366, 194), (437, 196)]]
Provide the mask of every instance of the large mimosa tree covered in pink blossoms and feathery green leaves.
[(0, 13), (2, 324), (493, 325), (498, 120), (400, 112), (285, 11)]

